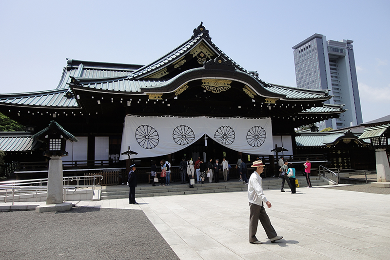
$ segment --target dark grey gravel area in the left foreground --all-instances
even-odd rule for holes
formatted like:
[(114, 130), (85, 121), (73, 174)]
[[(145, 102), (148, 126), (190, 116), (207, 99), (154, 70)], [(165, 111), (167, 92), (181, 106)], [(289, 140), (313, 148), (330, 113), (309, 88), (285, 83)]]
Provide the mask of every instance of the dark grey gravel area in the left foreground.
[(0, 259), (178, 260), (142, 210), (0, 212)]

